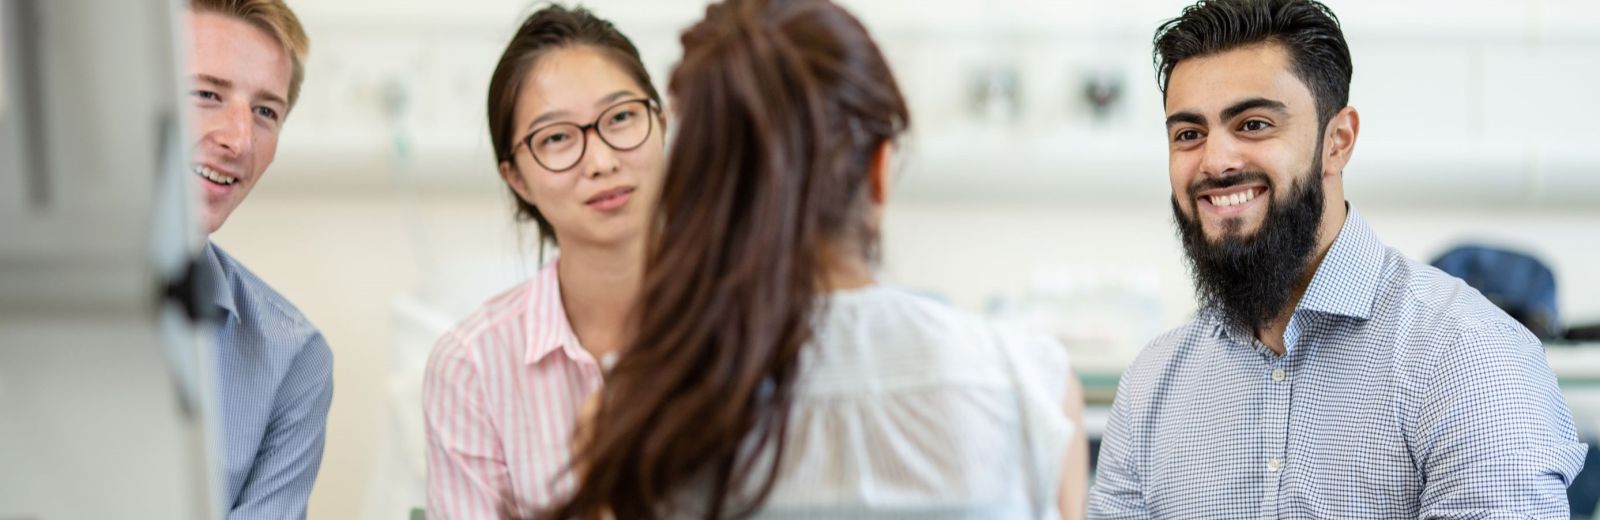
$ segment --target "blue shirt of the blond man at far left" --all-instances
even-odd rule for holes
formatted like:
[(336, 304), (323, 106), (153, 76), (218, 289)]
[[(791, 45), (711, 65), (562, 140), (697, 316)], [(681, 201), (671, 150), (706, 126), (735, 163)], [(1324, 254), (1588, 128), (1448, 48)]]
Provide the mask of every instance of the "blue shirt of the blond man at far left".
[(294, 306), (214, 243), (202, 261), (221, 309), (227, 518), (306, 518), (333, 400), (333, 350)]

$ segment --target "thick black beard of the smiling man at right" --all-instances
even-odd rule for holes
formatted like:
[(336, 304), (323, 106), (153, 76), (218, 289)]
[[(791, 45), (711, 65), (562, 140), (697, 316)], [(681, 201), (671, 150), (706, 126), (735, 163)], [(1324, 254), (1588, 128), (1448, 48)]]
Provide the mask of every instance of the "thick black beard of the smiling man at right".
[(1246, 333), (1254, 333), (1283, 312), (1294, 285), (1310, 266), (1322, 226), (1322, 158), (1307, 174), (1290, 182), (1290, 194), (1282, 202), (1275, 197), (1278, 190), (1272, 179), (1261, 171), (1200, 181), (1189, 187), (1189, 194), (1253, 181), (1266, 181), (1267, 194), (1262, 195), (1272, 197), (1261, 229), (1240, 237), (1240, 222), (1226, 222), (1221, 240), (1214, 243), (1202, 229), (1200, 200), (1194, 200), (1194, 210), (1184, 214), (1173, 195), (1173, 216), (1200, 304), (1216, 307), (1229, 326)]

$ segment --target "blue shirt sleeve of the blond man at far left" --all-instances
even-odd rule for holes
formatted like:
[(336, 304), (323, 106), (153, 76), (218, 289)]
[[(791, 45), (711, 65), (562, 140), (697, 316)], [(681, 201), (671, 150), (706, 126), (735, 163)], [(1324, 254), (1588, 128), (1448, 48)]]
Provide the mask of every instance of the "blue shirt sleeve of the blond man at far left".
[(278, 387), (267, 432), (229, 520), (306, 518), (333, 403), (333, 350), (314, 334)]

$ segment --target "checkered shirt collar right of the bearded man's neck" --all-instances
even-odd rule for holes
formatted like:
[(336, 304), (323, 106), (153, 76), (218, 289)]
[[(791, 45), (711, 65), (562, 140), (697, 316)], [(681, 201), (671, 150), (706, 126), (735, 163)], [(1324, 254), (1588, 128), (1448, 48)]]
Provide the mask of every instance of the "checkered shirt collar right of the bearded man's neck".
[(1339, 237), (1317, 266), (1299, 312), (1317, 312), (1368, 320), (1378, 301), (1378, 278), (1384, 267), (1384, 245), (1355, 208), (1349, 208)]

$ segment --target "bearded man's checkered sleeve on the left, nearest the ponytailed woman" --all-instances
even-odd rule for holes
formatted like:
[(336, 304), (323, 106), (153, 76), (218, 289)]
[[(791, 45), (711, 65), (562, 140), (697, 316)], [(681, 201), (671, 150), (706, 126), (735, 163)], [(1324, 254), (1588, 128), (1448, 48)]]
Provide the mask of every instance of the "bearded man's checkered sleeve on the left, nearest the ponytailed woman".
[(1094, 469), (1094, 486), (1090, 488), (1091, 520), (1133, 520), (1150, 518), (1144, 504), (1144, 491), (1139, 483), (1138, 456), (1134, 450), (1138, 440), (1131, 438), (1133, 429), (1128, 426), (1128, 376), (1123, 374), (1117, 386), (1117, 398), (1110, 405), (1110, 419), (1106, 434), (1101, 437), (1099, 462)]

